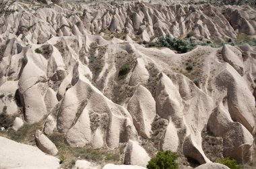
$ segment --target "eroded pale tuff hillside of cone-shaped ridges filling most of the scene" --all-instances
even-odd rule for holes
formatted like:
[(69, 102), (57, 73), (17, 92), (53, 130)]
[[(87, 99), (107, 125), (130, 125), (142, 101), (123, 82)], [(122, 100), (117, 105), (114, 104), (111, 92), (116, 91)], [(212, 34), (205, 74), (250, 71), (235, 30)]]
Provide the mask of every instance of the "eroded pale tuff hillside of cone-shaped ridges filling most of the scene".
[(59, 134), (71, 147), (125, 145), (121, 162), (143, 167), (157, 150), (178, 152), (184, 167), (184, 157), (251, 162), (256, 47), (197, 46), (177, 54), (137, 42), (168, 33), (212, 42), (254, 38), (255, 9), (3, 1), (1, 13), (0, 110), (20, 117), (15, 130), (23, 121), (40, 123), (43, 133), (33, 134), (43, 152), (57, 154), (56, 139), (47, 137)]

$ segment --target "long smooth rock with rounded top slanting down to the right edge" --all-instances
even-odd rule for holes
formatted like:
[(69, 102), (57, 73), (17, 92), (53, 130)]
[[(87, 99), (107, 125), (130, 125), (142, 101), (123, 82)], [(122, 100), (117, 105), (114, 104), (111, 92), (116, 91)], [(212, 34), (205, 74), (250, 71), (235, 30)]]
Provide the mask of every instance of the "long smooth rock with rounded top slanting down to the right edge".
[[(228, 64), (216, 76), (218, 87), (224, 87), (228, 95), (228, 109), (235, 121), (242, 123), (250, 132), (255, 125), (255, 99), (243, 78)], [(244, 101), (247, 100), (247, 104)]]

